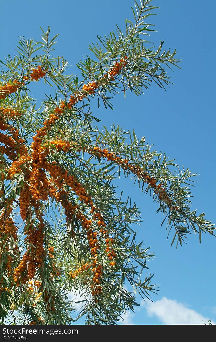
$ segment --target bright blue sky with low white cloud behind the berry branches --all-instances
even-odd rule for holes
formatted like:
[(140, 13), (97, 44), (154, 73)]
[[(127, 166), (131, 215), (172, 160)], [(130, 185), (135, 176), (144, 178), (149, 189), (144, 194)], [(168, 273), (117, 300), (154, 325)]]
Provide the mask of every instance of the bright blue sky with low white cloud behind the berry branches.
[[(215, 59), (215, 2), (208, 6), (201, 0), (154, 0), (160, 6), (157, 16), (151, 17), (156, 30), (151, 41), (159, 44), (165, 40), (166, 49), (177, 49), (182, 60), (181, 70), (170, 73), (174, 85), (167, 91), (156, 85), (142, 96), (127, 93), (116, 95), (114, 110), (98, 110), (97, 100), (91, 109), (102, 119), (107, 128), (118, 123), (125, 130), (134, 129), (136, 135), (146, 137), (154, 149), (175, 158), (179, 166), (189, 167), (199, 176), (194, 195), (193, 209), (205, 212), (206, 218), (215, 218), (215, 103), (212, 66)], [(83, 0), (59, 2), (55, 0), (3, 1), (1, 4), (0, 59), (14, 54), (18, 36), (40, 39), (40, 26), (51, 26), (51, 35), (60, 33), (55, 45), (56, 55), (63, 55), (72, 65), (71, 72), (78, 72), (76, 63), (88, 54), (88, 44), (96, 42), (97, 35), (107, 35), (117, 23), (124, 28), (124, 19), (132, 19), (133, 0), (94, 2)], [(36, 89), (36, 88), (35, 88)], [(36, 94), (35, 94), (36, 95)], [(38, 98), (42, 94), (38, 90)], [(154, 304), (147, 303), (126, 317), (127, 324), (202, 324), (202, 317), (216, 321), (214, 295), (216, 239), (192, 234), (182, 248), (170, 247), (164, 227), (160, 227), (162, 215), (156, 215), (157, 205), (142, 194), (133, 181), (121, 179), (125, 191), (136, 198), (141, 208), (143, 223), (138, 227), (138, 238), (151, 246), (156, 258), (149, 264), (155, 273), (154, 283), (161, 284), (159, 295), (153, 296)], [(141, 299), (139, 299), (141, 302)], [(182, 303), (182, 304), (181, 304)], [(170, 314), (172, 313), (172, 314)], [(181, 313), (181, 314), (180, 314)], [(171, 317), (170, 317), (171, 316)]]

